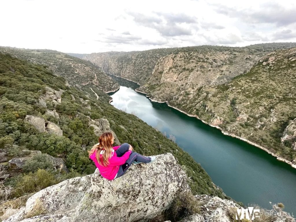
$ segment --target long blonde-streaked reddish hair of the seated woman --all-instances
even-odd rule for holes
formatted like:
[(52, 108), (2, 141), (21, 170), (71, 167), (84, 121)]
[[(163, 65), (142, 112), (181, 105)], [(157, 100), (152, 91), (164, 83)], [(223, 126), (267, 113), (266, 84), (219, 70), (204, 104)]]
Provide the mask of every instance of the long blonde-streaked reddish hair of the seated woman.
[[(95, 144), (89, 152), (89, 157), (96, 152), (96, 160), (98, 161), (98, 163), (102, 166), (108, 166), (109, 165), (109, 158), (112, 156), (112, 138), (113, 138), (113, 134), (110, 132), (107, 133), (103, 133), (100, 137), (99, 137), (99, 143)], [(103, 151), (102, 154), (102, 161), (100, 159), (100, 153), (101, 151)]]

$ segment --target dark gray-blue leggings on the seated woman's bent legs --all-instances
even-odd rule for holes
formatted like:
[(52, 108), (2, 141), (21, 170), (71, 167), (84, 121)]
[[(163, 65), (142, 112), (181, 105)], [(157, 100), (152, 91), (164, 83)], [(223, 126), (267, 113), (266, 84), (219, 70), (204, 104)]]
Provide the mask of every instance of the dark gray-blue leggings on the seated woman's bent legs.
[[(129, 148), (129, 144), (127, 143), (124, 143), (122, 144), (115, 152), (116, 152), (116, 155), (118, 157), (121, 157), (123, 154), (125, 154), (127, 151), (128, 151), (128, 148)], [(119, 167), (119, 170), (118, 170), (118, 173), (117, 173), (117, 176), (116, 178), (122, 176), (126, 170), (131, 166), (131, 164), (133, 163), (133, 161), (139, 161), (139, 162), (142, 162), (142, 163), (149, 163), (151, 160), (150, 157), (145, 157), (145, 156), (142, 156), (141, 154), (139, 153), (136, 153), (136, 152), (131, 152), (131, 155), (128, 157), (128, 159), (126, 160), (126, 163), (121, 165)], [(128, 164), (128, 165), (127, 165)]]

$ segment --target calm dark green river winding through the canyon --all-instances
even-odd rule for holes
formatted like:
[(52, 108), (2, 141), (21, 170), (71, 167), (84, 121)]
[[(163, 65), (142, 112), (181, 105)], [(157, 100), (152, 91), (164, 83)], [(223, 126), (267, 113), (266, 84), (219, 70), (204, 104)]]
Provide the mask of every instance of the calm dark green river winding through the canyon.
[(296, 169), (244, 141), (189, 117), (167, 104), (151, 102), (134, 91), (136, 83), (115, 78), (120, 89), (111, 104), (131, 113), (166, 135), (207, 171), (226, 195), (245, 205), (256, 203), (268, 210), (269, 202), (282, 202), (296, 217)]

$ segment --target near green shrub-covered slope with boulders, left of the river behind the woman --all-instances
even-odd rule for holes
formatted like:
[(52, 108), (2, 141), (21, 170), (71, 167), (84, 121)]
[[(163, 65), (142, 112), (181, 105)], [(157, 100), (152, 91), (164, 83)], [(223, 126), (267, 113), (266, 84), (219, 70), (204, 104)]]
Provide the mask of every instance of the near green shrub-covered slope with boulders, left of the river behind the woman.
[[(18, 204), (23, 205), (33, 192), (93, 173), (95, 166), (87, 150), (97, 142), (100, 130), (113, 131), (117, 143), (128, 142), (143, 155), (171, 152), (190, 178), (193, 194), (226, 197), (176, 143), (136, 116), (110, 105), (110, 97), (104, 93), (110, 89), (98, 84), (97, 97), (89, 87), (68, 85), (64, 77), (56, 75), (58, 68), (40, 65), (53, 61), (58, 52), (53, 52), (54, 56), (50, 53), (44, 62), (47, 57), (43, 53), (38, 61), (30, 62), (30, 57), (20, 58), (25, 57), (22, 50), (13, 52), (0, 52), (0, 202), (4, 204), (0, 214), (8, 200), (19, 197)], [(69, 67), (68, 62), (63, 66), (62, 59), (57, 63)], [(67, 72), (59, 74), (67, 76)], [(57, 170), (58, 166), (51, 164), (52, 157), (45, 154), (62, 161), (66, 168)], [(16, 160), (26, 161), (25, 165), (19, 167)]]

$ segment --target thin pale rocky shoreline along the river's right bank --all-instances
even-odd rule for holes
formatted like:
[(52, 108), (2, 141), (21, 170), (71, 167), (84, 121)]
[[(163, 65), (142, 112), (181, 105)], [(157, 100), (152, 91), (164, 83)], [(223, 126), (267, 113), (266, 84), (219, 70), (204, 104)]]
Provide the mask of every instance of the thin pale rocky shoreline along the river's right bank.
[(219, 127), (219, 126), (215, 126), (215, 125), (211, 125), (210, 123), (207, 123), (207, 122), (205, 122), (204, 120), (200, 119), (197, 115), (188, 114), (188, 113), (184, 112), (183, 110), (180, 110), (180, 109), (178, 109), (178, 108), (176, 108), (176, 107), (171, 106), (170, 104), (168, 104), (168, 101), (160, 102), (160, 101), (157, 101), (157, 100), (151, 99), (149, 96), (147, 96), (147, 93), (145, 93), (145, 92), (142, 92), (142, 91), (139, 91), (139, 90), (136, 90), (136, 89), (135, 89), (135, 91), (136, 91), (136, 92), (139, 92), (139, 93), (142, 93), (142, 94), (145, 94), (145, 96), (146, 96), (150, 101), (152, 101), (152, 102), (166, 103), (169, 107), (171, 107), (171, 108), (173, 108), (173, 109), (175, 109), (175, 110), (178, 110), (179, 112), (182, 112), (182, 113), (184, 113), (184, 114), (187, 115), (187, 116), (197, 118), (198, 120), (202, 121), (202, 123), (205, 123), (205, 124), (207, 124), (207, 125), (209, 125), (209, 126), (211, 126), (211, 127), (217, 128), (218, 130), (221, 131), (221, 133), (223, 133), (223, 134), (226, 135), (226, 136), (231, 136), (231, 137), (234, 137), (234, 138), (240, 139), (240, 140), (242, 140), (242, 141), (244, 141), (244, 142), (247, 142), (248, 144), (251, 144), (251, 145), (253, 145), (253, 146), (255, 146), (255, 147), (258, 147), (258, 148), (264, 150), (265, 152), (267, 152), (268, 154), (271, 154), (272, 156), (276, 157), (277, 160), (279, 160), (279, 161), (281, 161), (281, 162), (284, 162), (284, 163), (287, 163), (287, 164), (289, 164), (292, 168), (295, 168), (295, 169), (296, 169), (296, 165), (293, 164), (291, 161), (286, 160), (286, 159), (284, 159), (284, 158), (278, 156), (277, 154), (275, 154), (275, 153), (269, 151), (268, 149), (266, 149), (265, 147), (262, 147), (262, 146), (260, 146), (260, 145), (258, 145), (258, 144), (255, 144), (254, 142), (252, 142), (252, 141), (250, 141), (250, 140), (244, 139), (244, 138), (239, 137), (239, 136), (237, 136), (237, 135), (234, 135), (234, 134), (231, 134), (231, 133), (227, 133), (227, 132), (223, 131), (223, 129), (222, 129), (221, 127)]

